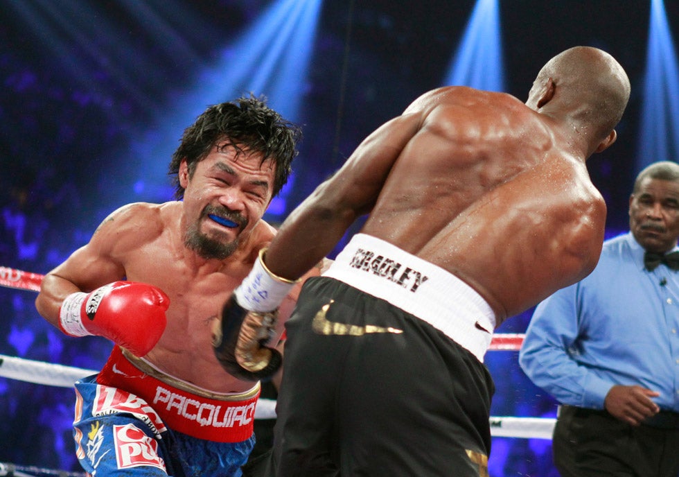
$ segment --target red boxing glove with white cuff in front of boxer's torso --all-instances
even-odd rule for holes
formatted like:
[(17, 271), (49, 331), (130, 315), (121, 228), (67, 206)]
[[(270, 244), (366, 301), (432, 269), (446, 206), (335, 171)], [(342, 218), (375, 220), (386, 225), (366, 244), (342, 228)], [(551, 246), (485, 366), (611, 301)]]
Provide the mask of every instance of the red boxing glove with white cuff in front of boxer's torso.
[(114, 281), (91, 293), (71, 293), (62, 303), (59, 321), (67, 335), (103, 336), (144, 356), (163, 334), (169, 306), (168, 295), (156, 286)]

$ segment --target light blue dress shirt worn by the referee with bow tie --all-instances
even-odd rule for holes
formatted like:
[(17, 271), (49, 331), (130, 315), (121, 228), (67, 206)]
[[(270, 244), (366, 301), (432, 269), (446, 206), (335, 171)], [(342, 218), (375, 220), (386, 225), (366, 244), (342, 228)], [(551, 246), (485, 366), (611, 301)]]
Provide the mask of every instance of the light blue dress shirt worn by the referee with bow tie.
[(603, 243), (588, 277), (536, 307), (519, 363), (561, 404), (603, 409), (613, 385), (636, 384), (679, 412), (678, 333), (679, 272), (646, 270), (628, 233)]

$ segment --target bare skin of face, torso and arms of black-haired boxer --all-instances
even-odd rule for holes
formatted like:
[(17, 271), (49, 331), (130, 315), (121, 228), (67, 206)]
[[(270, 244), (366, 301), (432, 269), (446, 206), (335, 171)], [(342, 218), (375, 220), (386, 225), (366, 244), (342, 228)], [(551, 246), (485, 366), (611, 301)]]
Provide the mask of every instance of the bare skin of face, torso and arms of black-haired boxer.
[[(211, 340), (216, 313), (247, 275), (259, 250), (276, 231), (261, 220), (271, 200), (274, 168), (260, 165), (259, 155), (217, 150), (196, 166), (189, 178), (182, 164), (179, 179), (186, 188), (182, 202), (136, 203), (121, 207), (98, 227), (91, 241), (49, 272), (36, 306), (58, 326), (64, 297), (127, 279), (153, 284), (170, 298), (167, 327), (144, 357), (160, 370), (212, 392), (243, 392), (252, 381), (227, 374), (215, 358)], [(247, 220), (233, 227), (233, 218), (211, 218), (204, 207), (226, 207)], [(216, 219), (216, 220), (215, 220)], [(217, 241), (238, 245), (225, 259), (205, 259), (184, 243), (186, 229)], [(309, 275), (317, 275), (318, 269)], [(299, 287), (281, 304), (282, 323), (290, 315)]]

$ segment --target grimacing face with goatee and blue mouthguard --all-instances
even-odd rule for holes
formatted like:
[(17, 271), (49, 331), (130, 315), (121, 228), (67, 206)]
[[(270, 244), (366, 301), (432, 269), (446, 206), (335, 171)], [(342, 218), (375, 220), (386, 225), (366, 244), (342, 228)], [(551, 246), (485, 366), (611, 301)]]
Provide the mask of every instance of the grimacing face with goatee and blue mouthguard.
[(233, 146), (212, 148), (188, 177), (179, 168), (184, 191), (184, 243), (205, 259), (223, 260), (238, 248), (272, 200), (275, 165), (261, 153)]

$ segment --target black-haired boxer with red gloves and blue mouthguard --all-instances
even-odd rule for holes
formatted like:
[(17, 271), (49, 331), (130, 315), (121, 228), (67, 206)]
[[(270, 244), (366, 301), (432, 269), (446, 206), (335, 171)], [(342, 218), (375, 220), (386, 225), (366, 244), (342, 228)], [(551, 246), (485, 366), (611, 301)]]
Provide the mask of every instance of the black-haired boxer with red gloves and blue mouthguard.
[[(178, 200), (114, 211), (44, 277), (36, 306), (49, 322), (115, 344), (103, 370), (76, 383), (74, 437), (89, 474), (240, 476), (260, 387), (224, 372), (212, 323), (274, 237), (262, 216), (298, 138), (257, 98), (209, 107), (170, 162)], [(276, 342), (282, 329), (270, 332)]]

